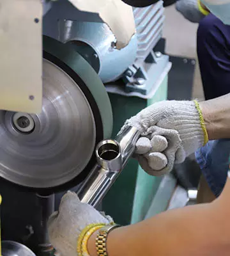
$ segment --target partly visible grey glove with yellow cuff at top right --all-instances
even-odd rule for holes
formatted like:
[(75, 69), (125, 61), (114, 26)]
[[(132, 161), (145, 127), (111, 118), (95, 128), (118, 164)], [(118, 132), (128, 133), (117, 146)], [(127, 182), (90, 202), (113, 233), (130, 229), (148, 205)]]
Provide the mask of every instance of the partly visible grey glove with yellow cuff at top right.
[(207, 10), (201, 6), (199, 0), (178, 0), (176, 1), (176, 10), (180, 12), (185, 19), (190, 22), (199, 23), (206, 15)]

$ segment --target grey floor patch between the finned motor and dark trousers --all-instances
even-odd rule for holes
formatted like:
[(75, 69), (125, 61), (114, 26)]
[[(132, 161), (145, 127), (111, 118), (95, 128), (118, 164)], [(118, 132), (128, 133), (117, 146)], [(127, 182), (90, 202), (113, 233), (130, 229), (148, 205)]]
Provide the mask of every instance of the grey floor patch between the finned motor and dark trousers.
[[(166, 38), (167, 54), (197, 59), (197, 28), (198, 24), (186, 20), (176, 11), (174, 4), (165, 8), (163, 36)], [(198, 100), (204, 99), (198, 61), (196, 61), (192, 97)]]

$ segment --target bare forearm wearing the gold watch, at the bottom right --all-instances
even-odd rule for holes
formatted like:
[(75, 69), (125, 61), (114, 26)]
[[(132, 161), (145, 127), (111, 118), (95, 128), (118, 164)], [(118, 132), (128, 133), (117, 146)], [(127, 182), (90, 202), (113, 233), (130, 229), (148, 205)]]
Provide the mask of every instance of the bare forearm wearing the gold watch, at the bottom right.
[[(230, 181), (222, 196), (211, 204), (167, 211), (135, 225), (111, 231), (107, 240), (109, 256), (229, 255)], [(96, 256), (96, 232), (88, 248)]]

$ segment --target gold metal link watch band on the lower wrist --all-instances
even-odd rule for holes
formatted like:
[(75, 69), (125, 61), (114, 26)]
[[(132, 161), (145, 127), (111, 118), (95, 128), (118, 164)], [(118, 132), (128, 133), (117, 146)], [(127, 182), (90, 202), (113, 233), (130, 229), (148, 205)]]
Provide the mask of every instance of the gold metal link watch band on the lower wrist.
[(109, 232), (114, 230), (114, 228), (121, 227), (120, 225), (112, 225), (112, 226), (105, 226), (100, 228), (97, 236), (96, 236), (96, 252), (98, 256), (107, 256), (107, 248), (106, 248), (106, 241)]

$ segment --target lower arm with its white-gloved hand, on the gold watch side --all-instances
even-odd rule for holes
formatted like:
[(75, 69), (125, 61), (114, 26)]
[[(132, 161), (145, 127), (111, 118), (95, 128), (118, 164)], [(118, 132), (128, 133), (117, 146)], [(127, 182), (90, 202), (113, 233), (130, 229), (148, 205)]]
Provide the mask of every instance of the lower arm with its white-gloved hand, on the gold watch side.
[[(229, 255), (229, 195), (228, 179), (222, 195), (210, 204), (167, 211), (135, 225), (117, 228), (107, 237), (108, 255)], [(77, 195), (68, 193), (61, 200), (59, 212), (50, 218), (50, 242), (63, 256), (80, 256), (84, 246), (79, 241), (88, 236), (91, 228), (86, 232), (86, 227), (93, 223), (109, 221), (90, 205), (79, 202)], [(96, 256), (96, 232), (91, 234), (86, 248), (89, 255)]]

